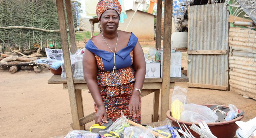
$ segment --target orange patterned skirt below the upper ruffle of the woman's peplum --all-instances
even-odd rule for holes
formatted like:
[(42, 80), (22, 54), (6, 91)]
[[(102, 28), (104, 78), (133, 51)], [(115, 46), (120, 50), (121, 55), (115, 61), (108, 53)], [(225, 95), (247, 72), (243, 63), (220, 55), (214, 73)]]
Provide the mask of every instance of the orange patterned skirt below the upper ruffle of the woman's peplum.
[[(132, 84), (132, 85), (131, 85)], [(112, 120), (113, 122), (116, 121), (116, 119), (118, 119), (121, 116), (121, 112), (123, 112), (124, 116), (126, 116), (127, 119), (140, 124), (141, 123), (141, 115), (139, 115), (139, 117), (133, 117), (130, 116), (130, 112), (129, 112), (129, 102), (130, 102), (130, 98), (132, 96), (132, 94), (130, 94), (131, 90), (133, 91), (133, 83), (130, 83), (128, 85), (125, 86), (125, 88), (127, 87), (132, 87), (126, 89), (126, 92), (120, 92), (123, 91), (124, 89), (122, 89), (124, 86), (120, 85), (120, 86), (99, 86), (99, 89), (101, 91), (101, 99), (103, 104), (105, 105), (105, 109), (107, 112), (107, 118), (108, 120)], [(109, 91), (109, 89), (111, 89), (111, 91), (113, 89), (117, 90), (117, 93), (119, 93), (118, 96), (108, 96), (109, 94), (107, 93), (102, 93), (102, 91), (104, 90)], [(128, 90), (128, 91), (127, 91)], [(122, 94), (121, 94), (122, 93)], [(140, 97), (140, 107), (141, 107), (141, 97)], [(95, 109), (95, 113), (98, 112), (98, 107), (97, 105), (94, 103), (94, 109)], [(101, 123), (104, 123), (104, 119), (102, 118)]]

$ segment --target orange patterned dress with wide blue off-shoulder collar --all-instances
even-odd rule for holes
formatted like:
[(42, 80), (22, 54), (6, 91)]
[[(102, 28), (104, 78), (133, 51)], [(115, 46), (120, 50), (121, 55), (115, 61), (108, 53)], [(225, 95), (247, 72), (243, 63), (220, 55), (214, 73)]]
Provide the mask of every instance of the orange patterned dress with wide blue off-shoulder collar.
[[(135, 70), (133, 69), (133, 48), (138, 39), (132, 33), (128, 45), (116, 52), (117, 69), (112, 73), (113, 69), (113, 53), (97, 49), (97, 47), (89, 40), (86, 44), (86, 49), (93, 52), (97, 60), (98, 75), (97, 83), (105, 105), (108, 120), (116, 121), (120, 117), (121, 112), (136, 123), (141, 123), (141, 116), (130, 117), (129, 101), (133, 93), (135, 82)], [(141, 106), (141, 97), (140, 97)], [(94, 103), (95, 113), (98, 108)], [(104, 123), (104, 120), (101, 121)]]

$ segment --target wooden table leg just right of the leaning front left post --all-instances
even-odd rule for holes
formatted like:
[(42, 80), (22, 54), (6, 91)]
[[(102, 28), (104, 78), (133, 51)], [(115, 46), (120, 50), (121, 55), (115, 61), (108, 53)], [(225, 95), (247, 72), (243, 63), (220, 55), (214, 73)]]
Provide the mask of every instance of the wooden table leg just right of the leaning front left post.
[[(76, 103), (77, 103), (77, 110), (78, 110), (78, 117), (83, 118), (84, 117), (84, 108), (83, 108), (83, 98), (81, 89), (76, 89)], [(80, 130), (85, 130), (85, 125), (80, 126)]]

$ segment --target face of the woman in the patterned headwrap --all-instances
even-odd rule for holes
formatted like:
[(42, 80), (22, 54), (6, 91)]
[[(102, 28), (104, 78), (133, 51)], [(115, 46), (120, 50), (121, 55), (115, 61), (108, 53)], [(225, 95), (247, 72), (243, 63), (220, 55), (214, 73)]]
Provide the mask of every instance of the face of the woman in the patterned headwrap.
[(102, 13), (100, 23), (102, 31), (108, 33), (115, 32), (119, 25), (119, 16), (115, 10), (108, 9)]

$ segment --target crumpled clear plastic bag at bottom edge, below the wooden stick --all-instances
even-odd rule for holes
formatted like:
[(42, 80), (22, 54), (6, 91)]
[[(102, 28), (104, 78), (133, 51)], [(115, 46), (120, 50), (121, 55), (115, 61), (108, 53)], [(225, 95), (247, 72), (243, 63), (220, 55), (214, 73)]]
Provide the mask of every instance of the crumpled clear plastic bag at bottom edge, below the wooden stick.
[(130, 126), (124, 129), (123, 133), (124, 138), (155, 138), (155, 135), (151, 132), (151, 130), (144, 130), (137, 126)]

